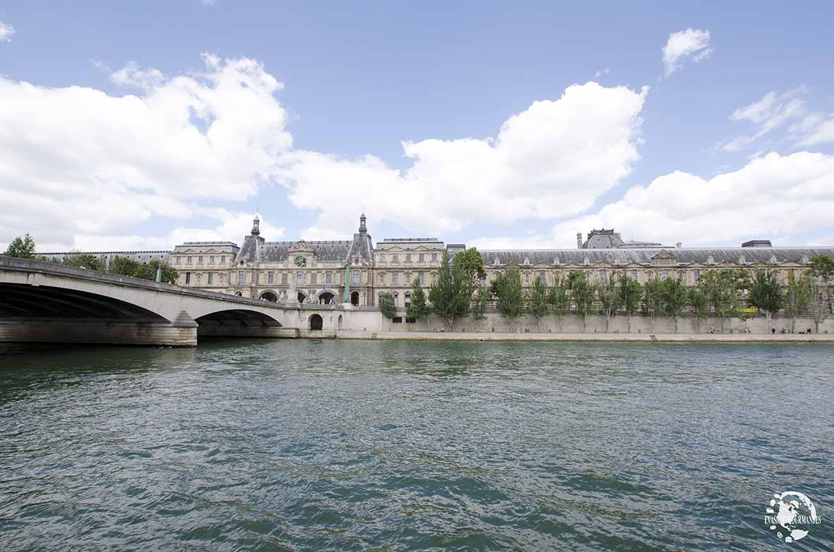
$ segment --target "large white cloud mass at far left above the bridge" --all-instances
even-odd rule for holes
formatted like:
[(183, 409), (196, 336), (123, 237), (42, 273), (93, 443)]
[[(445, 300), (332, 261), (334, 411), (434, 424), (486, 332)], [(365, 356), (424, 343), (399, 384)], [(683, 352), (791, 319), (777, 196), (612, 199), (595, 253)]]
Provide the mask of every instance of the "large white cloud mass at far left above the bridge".
[(274, 97), (282, 85), (251, 59), (204, 62), (188, 77), (133, 64), (113, 73), (141, 83), (139, 96), (0, 77), (0, 238), (69, 246), (274, 182), (292, 144)]

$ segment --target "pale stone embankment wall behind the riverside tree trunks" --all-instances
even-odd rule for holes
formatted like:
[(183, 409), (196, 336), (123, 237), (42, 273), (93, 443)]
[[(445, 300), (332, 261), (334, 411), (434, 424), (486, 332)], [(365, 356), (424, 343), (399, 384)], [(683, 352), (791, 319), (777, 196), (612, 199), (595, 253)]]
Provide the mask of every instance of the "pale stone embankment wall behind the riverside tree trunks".
[[(398, 314), (399, 315), (399, 314)], [(404, 314), (402, 314), (404, 317)], [(404, 320), (404, 318), (403, 318)], [(771, 322), (771, 327), (776, 328), (778, 334), (782, 328), (787, 331), (791, 329), (791, 319), (789, 318), (774, 318)], [(809, 318), (796, 319), (796, 332), (805, 331), (806, 329), (814, 329), (814, 321)], [(502, 318), (500, 314), (486, 314), (486, 319), (475, 321), (469, 317), (455, 321), (455, 328), (451, 329), (449, 323), (445, 319), (437, 316), (431, 316), (428, 324), (405, 324), (394, 323), (389, 319), (385, 319), (379, 311), (364, 310), (354, 311), (349, 316), (349, 326), (345, 329), (353, 329), (357, 331), (369, 332), (407, 332), (407, 331), (433, 331), (437, 329), (444, 329), (445, 331), (455, 332), (479, 332), (479, 333), (493, 333), (493, 332), (518, 332), (519, 329), (524, 332), (525, 329), (530, 332), (553, 333), (560, 332), (559, 318), (556, 316), (547, 316), (536, 324), (535, 318), (532, 316), (522, 316), (519, 319), (509, 320)], [(711, 329), (715, 329), (716, 333), (721, 329), (721, 321), (719, 319), (701, 319), (700, 328), (697, 320), (691, 317), (681, 317), (678, 319), (677, 333), (678, 334), (707, 334)], [(749, 329), (751, 334), (766, 334), (767, 319), (764, 316), (755, 316), (751, 319), (725, 319), (724, 320), (724, 334), (742, 334), (747, 333)], [(601, 315), (593, 315), (587, 318), (585, 324), (585, 333), (593, 334), (594, 330), (598, 333), (605, 332), (605, 317)], [(565, 316), (563, 320), (561, 332), (565, 334), (580, 334), (582, 333), (582, 317), (570, 314)], [(628, 320), (625, 316), (615, 316), (610, 319), (608, 326), (609, 333), (625, 334), (628, 332)], [(632, 334), (672, 334), (675, 332), (674, 321), (670, 317), (656, 317), (654, 329), (652, 329), (651, 319), (646, 316), (631, 317), (631, 333)], [(820, 324), (820, 333), (834, 334), (834, 318), (828, 318)]]

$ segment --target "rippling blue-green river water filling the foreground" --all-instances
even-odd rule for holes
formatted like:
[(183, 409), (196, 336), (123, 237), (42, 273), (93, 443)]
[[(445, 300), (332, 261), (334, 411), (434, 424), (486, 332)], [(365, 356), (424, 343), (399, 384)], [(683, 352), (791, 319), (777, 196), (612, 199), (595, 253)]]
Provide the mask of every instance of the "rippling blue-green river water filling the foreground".
[[(3, 550), (834, 549), (834, 346), (0, 345)], [(822, 523), (764, 523), (798, 490)]]

